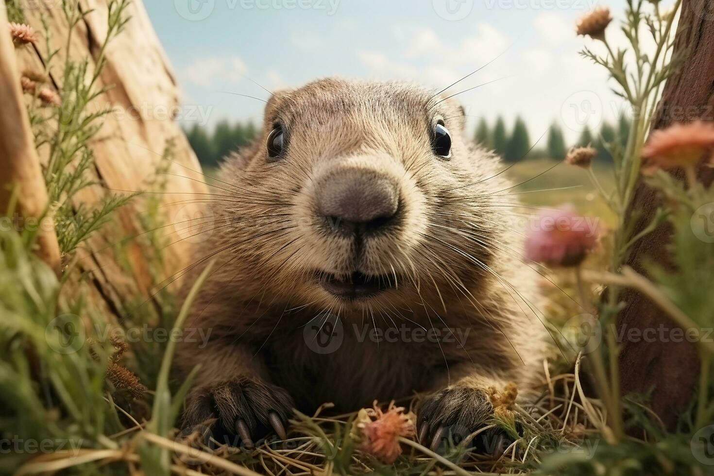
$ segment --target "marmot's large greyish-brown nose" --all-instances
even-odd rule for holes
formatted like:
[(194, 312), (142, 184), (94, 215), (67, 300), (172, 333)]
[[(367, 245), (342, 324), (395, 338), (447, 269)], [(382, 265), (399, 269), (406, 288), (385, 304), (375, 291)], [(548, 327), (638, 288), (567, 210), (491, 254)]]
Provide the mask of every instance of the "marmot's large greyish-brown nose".
[(399, 208), (396, 184), (373, 171), (346, 169), (321, 181), (318, 209), (335, 231), (376, 231), (390, 223)]

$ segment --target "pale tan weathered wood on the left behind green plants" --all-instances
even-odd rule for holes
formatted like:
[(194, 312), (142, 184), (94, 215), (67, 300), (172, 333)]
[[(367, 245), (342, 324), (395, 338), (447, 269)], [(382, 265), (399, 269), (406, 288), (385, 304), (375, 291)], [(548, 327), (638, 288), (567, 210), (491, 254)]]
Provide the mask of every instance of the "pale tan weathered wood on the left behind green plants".
[[(1, 8), (0, 19), (0, 186), (10, 181), (20, 184), (22, 213), (34, 216), (46, 207), (47, 194), (41, 176), (41, 166), (48, 158), (46, 146), (34, 149), (34, 138), (27, 121), (26, 101), (31, 95), (21, 92), (21, 74), (27, 71), (46, 76), (46, 86), (63, 91), (64, 61), (69, 24), (57, 0), (16, 2), (22, 9), (24, 21), (32, 26), (39, 38), (34, 44), (14, 49)], [(89, 59), (89, 71), (94, 71), (99, 59), (99, 46), (107, 33), (110, 0), (78, 0), (81, 11), (89, 12), (74, 27), (69, 44), (69, 59), (80, 63)], [(106, 301), (106, 308), (121, 309), (136, 288), (150, 295), (156, 285), (149, 275), (146, 253), (139, 240), (126, 240), (126, 261), (112, 253), (111, 244), (143, 231), (139, 220), (146, 213), (146, 197), (159, 198), (160, 211), (166, 223), (161, 228), (167, 240), (176, 242), (164, 250), (166, 269), (158, 280), (169, 278), (188, 263), (186, 241), (171, 223), (176, 215), (193, 216), (197, 212), (196, 193), (205, 193), (201, 165), (196, 159), (176, 114), (183, 111), (180, 91), (173, 68), (151, 26), (141, 0), (132, 0), (126, 16), (130, 21), (104, 51), (104, 69), (95, 85), (108, 91), (94, 99), (92, 111), (111, 109), (104, 116), (99, 132), (89, 139), (94, 153), (94, 166), (87, 171), (87, 179), (96, 183), (81, 190), (73, 199), (73, 206), (94, 208), (102, 199), (121, 191), (144, 191), (149, 178), (156, 176), (159, 164), (168, 167), (161, 175), (167, 193), (138, 197), (120, 208), (112, 216), (111, 232), (106, 228), (94, 233), (78, 250), (79, 271), (91, 277), (95, 297)], [(46, 35), (43, 21), (49, 27)], [(46, 38), (49, 36), (49, 38)], [(49, 40), (49, 46), (47, 41)], [(51, 64), (44, 63), (50, 50), (59, 50)], [(89, 81), (89, 79), (87, 79)], [(200, 105), (210, 113), (211, 105)], [(171, 149), (170, 156), (165, 153)], [(7, 200), (6, 189), (0, 192), (0, 206)], [(4, 212), (4, 209), (1, 210)], [(185, 218), (183, 218), (185, 220)], [(59, 251), (51, 234), (41, 237), (39, 251), (51, 265), (59, 266)], [(132, 275), (127, 275), (124, 264), (129, 263)], [(171, 278), (173, 279), (173, 278)], [(166, 281), (167, 283), (169, 280)]]

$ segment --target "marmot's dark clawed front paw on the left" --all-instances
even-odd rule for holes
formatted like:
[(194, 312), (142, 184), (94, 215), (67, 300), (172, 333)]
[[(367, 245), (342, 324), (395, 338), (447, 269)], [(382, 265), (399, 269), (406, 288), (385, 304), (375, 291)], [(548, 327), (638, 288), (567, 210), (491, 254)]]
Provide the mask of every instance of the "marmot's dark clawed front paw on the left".
[(288, 415), (294, 407), (290, 395), (275, 385), (249, 378), (226, 380), (196, 388), (188, 395), (182, 434), (200, 430), (206, 437), (216, 430), (240, 438), (231, 445), (242, 443), (249, 448), (273, 432), (285, 440)]

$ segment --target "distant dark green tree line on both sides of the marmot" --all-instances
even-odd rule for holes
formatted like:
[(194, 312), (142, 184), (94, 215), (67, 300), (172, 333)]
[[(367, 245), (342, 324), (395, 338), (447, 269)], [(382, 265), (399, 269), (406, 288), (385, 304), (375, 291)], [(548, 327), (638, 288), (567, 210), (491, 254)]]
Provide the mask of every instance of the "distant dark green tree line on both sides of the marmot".
[[(473, 133), (473, 140), (493, 149), (509, 162), (520, 161), (526, 157), (560, 160), (565, 157), (568, 148), (573, 146), (593, 146), (598, 151), (598, 160), (612, 161), (606, 144), (619, 143), (624, 146), (623, 140), (628, 136), (629, 129), (628, 118), (620, 116), (615, 124), (604, 122), (595, 133), (590, 128), (585, 128), (578, 141), (568, 145), (563, 130), (557, 123), (553, 123), (546, 133), (545, 142), (541, 140), (534, 145), (538, 138), (531, 136), (522, 118), (516, 118), (510, 129), (506, 128), (506, 121), (501, 117), (498, 117), (493, 125), (481, 118)], [(230, 123), (223, 120), (216, 124), (213, 131), (198, 124), (186, 129), (186, 137), (196, 152), (198, 161), (208, 167), (218, 166), (228, 153), (250, 143), (256, 133), (256, 126), (251, 121)]]

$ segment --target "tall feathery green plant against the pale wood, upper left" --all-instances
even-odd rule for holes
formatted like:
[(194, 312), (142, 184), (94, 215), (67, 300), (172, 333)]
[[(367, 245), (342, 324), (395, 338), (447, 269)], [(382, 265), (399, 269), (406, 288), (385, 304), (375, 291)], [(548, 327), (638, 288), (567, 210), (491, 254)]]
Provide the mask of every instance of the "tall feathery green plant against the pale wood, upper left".
[[(44, 176), (56, 217), (57, 239), (64, 254), (71, 254), (109, 221), (112, 212), (133, 198), (131, 194), (109, 195), (92, 208), (73, 201), (77, 193), (94, 185), (94, 181), (87, 177), (87, 172), (94, 166), (94, 151), (89, 147), (89, 141), (99, 131), (101, 120), (111, 113), (111, 108), (93, 111), (93, 101), (109, 91), (109, 86), (99, 87), (97, 83), (106, 64), (104, 53), (107, 44), (121, 33), (129, 21), (125, 14), (128, 5), (129, 0), (110, 2), (106, 37), (99, 45), (94, 70), (90, 71), (89, 59), (79, 62), (72, 59), (71, 45), (76, 26), (92, 11), (82, 10), (74, 1), (62, 2), (62, 12), (69, 25), (69, 32), (62, 51), (61, 104), (56, 108), (44, 108), (41, 101), (36, 99), (30, 106), (36, 147), (48, 149)], [(51, 30), (47, 24), (44, 24), (44, 37), (48, 51), (45, 74), (48, 74), (54, 67), (59, 49), (51, 49)], [(49, 113), (46, 113), (48, 110)]]

